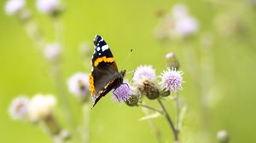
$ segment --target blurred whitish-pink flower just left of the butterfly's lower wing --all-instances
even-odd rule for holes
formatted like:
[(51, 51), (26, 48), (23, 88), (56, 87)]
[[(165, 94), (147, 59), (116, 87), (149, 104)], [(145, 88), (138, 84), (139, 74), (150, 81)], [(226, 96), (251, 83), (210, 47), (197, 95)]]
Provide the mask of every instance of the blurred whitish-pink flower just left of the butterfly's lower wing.
[(82, 72), (75, 73), (68, 79), (68, 90), (77, 97), (86, 98), (89, 93), (89, 77)]

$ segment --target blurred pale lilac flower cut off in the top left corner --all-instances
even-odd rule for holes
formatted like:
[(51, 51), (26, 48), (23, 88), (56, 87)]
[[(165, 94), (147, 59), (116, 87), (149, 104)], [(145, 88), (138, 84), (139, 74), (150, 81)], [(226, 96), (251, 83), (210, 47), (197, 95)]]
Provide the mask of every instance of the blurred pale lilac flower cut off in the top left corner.
[(25, 0), (8, 0), (5, 4), (6, 14), (17, 14), (25, 7)]

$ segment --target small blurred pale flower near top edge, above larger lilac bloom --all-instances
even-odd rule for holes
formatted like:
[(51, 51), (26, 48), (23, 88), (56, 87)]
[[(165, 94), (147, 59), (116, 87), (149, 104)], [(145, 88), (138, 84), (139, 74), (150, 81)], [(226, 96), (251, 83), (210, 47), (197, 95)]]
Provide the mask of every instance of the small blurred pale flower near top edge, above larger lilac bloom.
[(172, 16), (174, 19), (182, 19), (188, 15), (188, 9), (184, 4), (175, 4), (172, 8)]

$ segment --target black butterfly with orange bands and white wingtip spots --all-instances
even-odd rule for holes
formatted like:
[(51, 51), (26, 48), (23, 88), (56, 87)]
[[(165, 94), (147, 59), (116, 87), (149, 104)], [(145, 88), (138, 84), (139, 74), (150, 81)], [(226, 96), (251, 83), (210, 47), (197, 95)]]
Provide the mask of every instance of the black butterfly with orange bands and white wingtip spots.
[(113, 54), (103, 37), (96, 35), (94, 45), (89, 85), (93, 106), (96, 106), (96, 103), (110, 90), (117, 89), (123, 83), (125, 70), (119, 72)]

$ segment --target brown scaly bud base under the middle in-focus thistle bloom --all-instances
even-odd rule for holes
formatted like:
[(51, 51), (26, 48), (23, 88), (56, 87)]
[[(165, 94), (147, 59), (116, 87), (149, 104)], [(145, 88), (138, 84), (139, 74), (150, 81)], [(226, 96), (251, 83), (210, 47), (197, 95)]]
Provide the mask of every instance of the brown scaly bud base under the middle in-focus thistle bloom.
[(143, 79), (140, 80), (137, 84), (137, 89), (141, 94), (146, 95), (149, 100), (157, 99), (160, 95), (159, 89), (148, 77), (143, 77)]

